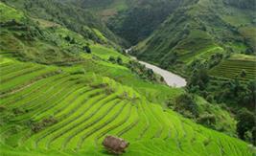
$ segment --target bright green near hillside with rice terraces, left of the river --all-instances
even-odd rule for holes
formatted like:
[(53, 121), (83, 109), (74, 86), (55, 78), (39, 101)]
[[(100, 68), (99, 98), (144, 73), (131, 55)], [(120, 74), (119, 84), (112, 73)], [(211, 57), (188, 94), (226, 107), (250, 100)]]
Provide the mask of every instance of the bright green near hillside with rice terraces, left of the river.
[(124, 155), (252, 155), (221, 107), (197, 97), (229, 136), (169, 109), (166, 100), (186, 90), (111, 45), (2, 2), (0, 11), (0, 155), (109, 155), (101, 145), (109, 134), (129, 142)]

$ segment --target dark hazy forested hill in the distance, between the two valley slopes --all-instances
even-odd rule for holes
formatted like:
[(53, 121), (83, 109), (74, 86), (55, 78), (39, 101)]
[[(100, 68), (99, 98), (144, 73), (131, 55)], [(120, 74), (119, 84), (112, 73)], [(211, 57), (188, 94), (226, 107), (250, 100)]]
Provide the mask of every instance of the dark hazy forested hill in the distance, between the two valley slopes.
[(67, 0), (98, 13), (113, 32), (135, 45), (179, 7), (197, 0)]

